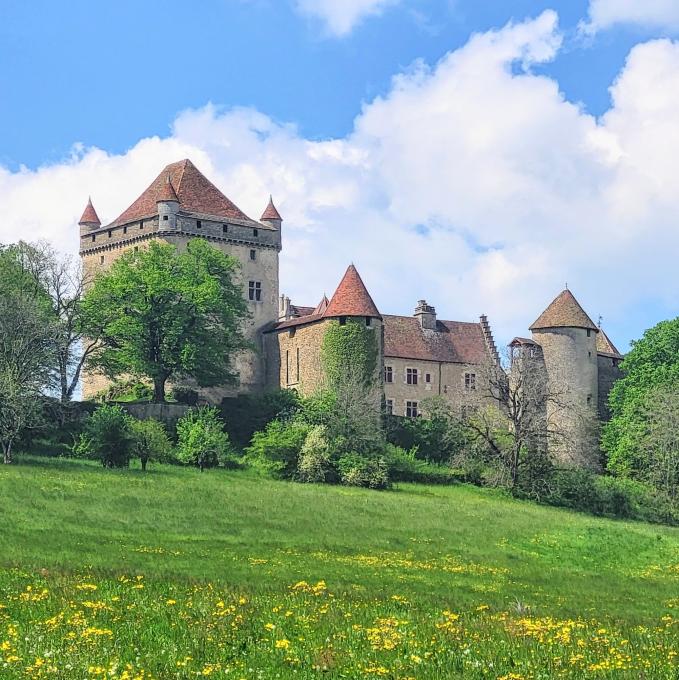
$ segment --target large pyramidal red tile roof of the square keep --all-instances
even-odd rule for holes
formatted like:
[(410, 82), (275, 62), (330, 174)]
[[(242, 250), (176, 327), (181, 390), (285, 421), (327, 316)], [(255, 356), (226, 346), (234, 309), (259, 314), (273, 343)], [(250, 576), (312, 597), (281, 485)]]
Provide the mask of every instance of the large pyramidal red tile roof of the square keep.
[(126, 224), (157, 214), (156, 201), (163, 194), (168, 176), (179, 199), (180, 210), (214, 215), (223, 219), (253, 221), (217, 189), (190, 160), (184, 159), (163, 168), (146, 191), (112, 224)]

